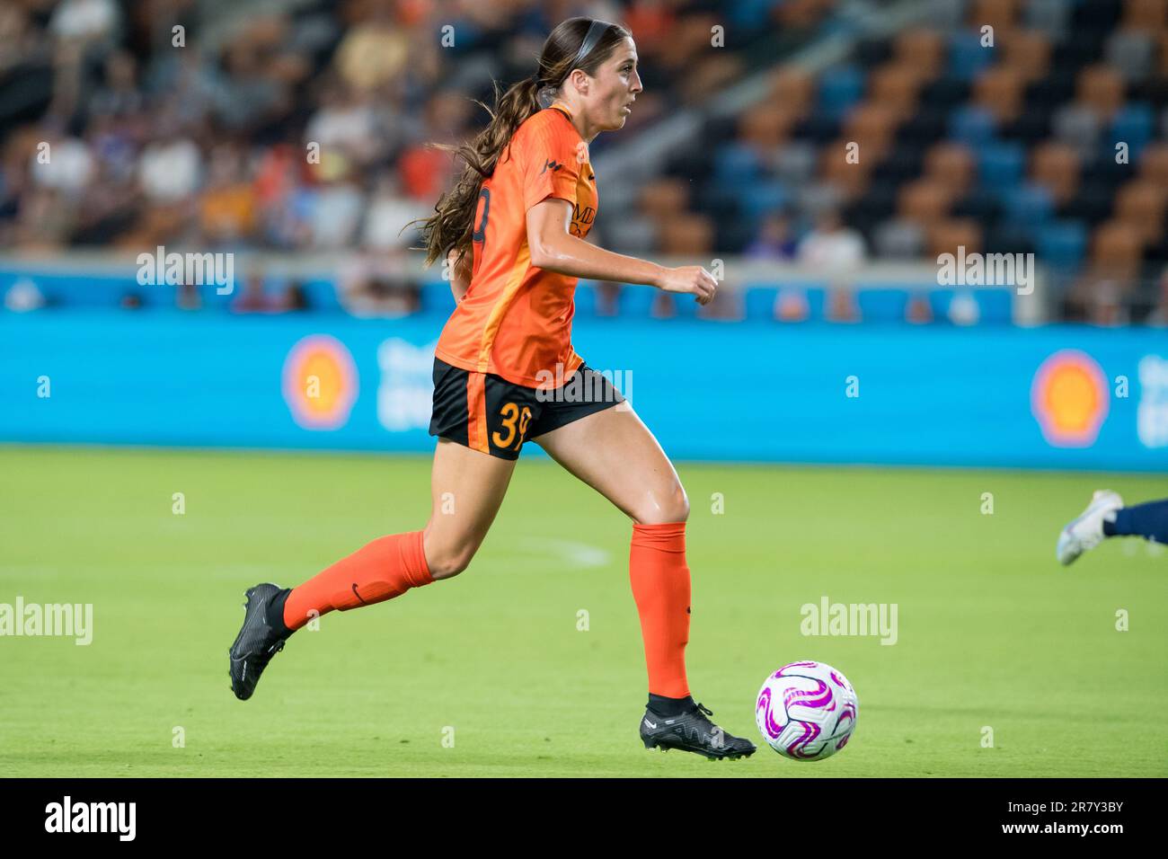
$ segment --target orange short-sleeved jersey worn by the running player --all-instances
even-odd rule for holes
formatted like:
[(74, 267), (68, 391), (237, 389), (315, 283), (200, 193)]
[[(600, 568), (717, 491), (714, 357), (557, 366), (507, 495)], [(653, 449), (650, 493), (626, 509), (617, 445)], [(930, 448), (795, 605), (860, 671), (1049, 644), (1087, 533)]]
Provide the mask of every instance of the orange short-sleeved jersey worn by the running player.
[(515, 130), (510, 154), (505, 148), (482, 182), (471, 284), (443, 328), (437, 358), (530, 388), (563, 383), (583, 362), (571, 342), (577, 278), (531, 265), (527, 244), (527, 210), (549, 196), (575, 207), (571, 234), (586, 236), (596, 176), (559, 102)]

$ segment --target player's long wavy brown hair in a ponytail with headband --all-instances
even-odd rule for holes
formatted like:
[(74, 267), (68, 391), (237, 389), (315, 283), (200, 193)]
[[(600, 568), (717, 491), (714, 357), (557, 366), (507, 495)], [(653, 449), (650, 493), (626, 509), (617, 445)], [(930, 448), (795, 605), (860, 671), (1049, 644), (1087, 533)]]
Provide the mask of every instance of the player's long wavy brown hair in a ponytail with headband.
[(499, 95), (499, 84), (492, 82), (495, 92), (494, 110), (474, 99), (491, 115), (491, 122), (471, 143), (460, 146), (431, 144), (434, 148), (446, 150), (456, 153), (456, 157), (461, 157), (466, 166), (454, 187), (438, 198), (433, 215), (410, 221), (410, 223), (422, 222), (420, 230), (425, 244), (415, 250), (426, 251), (426, 266), (432, 265), (436, 259), (444, 259), (452, 248), (459, 251), (459, 261), (464, 254), (470, 252), (474, 212), (478, 208), (482, 180), (495, 172), (495, 165), (503, 151), (509, 148), (515, 130), (545, 106), (540, 103), (540, 91), (545, 90), (545, 97), (549, 93), (558, 95), (564, 79), (573, 69), (595, 75), (617, 46), (632, 36), (620, 25), (602, 21), (602, 25), (606, 25), (606, 29), (600, 33), (595, 47), (584, 57), (578, 58), (592, 20), (569, 18), (559, 23), (543, 43), (538, 69), (530, 77), (513, 84), (502, 96)]

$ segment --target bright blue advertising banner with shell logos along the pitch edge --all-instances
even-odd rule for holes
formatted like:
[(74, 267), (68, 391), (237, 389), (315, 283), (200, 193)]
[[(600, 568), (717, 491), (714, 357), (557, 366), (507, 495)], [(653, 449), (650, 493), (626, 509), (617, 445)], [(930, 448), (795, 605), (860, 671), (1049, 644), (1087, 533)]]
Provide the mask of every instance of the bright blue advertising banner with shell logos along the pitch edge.
[[(429, 451), (443, 321), (0, 314), (0, 441)], [(583, 318), (575, 345), (677, 459), (1168, 470), (1153, 330)]]

